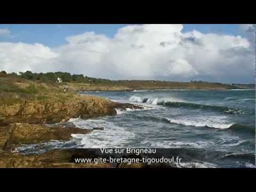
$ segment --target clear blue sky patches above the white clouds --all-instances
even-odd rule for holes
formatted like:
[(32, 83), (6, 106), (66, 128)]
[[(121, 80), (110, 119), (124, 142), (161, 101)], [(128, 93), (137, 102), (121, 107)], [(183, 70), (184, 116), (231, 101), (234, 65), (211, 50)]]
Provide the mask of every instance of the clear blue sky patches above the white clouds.
[[(0, 42), (22, 42), (22, 43), (42, 43), (46, 46), (54, 47), (66, 43), (65, 38), (71, 35), (78, 35), (86, 31), (94, 31), (96, 34), (105, 34), (113, 37), (116, 31), (126, 26), (125, 24), (38, 24), (38, 25), (0, 25), (1, 28), (9, 29), (11, 35), (0, 36)], [(227, 24), (185, 24), (182, 32), (198, 30), (202, 33), (245, 35), (239, 25)]]

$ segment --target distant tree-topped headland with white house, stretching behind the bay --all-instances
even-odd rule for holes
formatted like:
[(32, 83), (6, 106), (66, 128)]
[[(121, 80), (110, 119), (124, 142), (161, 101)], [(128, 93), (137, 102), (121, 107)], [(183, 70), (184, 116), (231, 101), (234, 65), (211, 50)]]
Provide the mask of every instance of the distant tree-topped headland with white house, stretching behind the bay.
[(20, 77), (34, 82), (58, 83), (74, 91), (133, 91), (156, 89), (184, 89), (184, 90), (231, 90), (231, 89), (255, 89), (255, 84), (225, 84), (204, 81), (171, 82), (155, 80), (110, 80), (103, 78), (87, 77), (84, 75), (71, 75), (67, 72), (32, 73), (26, 71), (19, 74), (5, 71), (0, 76)]

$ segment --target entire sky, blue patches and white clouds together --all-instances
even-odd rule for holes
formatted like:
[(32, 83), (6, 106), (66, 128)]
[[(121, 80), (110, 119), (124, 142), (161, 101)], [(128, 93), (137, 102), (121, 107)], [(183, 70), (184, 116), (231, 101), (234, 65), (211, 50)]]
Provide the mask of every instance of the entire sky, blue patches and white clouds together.
[(254, 83), (251, 24), (0, 25), (0, 70)]

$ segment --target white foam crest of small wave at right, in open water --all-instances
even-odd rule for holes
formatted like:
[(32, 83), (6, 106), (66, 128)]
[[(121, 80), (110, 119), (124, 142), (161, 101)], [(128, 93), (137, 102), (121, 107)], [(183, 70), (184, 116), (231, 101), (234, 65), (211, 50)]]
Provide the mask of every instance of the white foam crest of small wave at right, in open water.
[(216, 129), (228, 129), (232, 126), (232, 123), (229, 123), (226, 120), (225, 116), (194, 116), (194, 117), (183, 117), (180, 119), (166, 118), (170, 123), (176, 123), (186, 126), (195, 126), (195, 127), (211, 127)]

